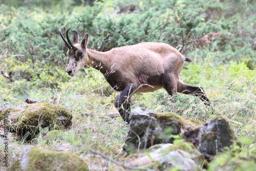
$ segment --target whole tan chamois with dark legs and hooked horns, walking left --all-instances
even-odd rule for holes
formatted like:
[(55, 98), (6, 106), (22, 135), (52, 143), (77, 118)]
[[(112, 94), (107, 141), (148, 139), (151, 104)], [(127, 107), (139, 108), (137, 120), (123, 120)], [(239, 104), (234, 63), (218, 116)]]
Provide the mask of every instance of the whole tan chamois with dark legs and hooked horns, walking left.
[(66, 72), (74, 76), (84, 66), (99, 70), (110, 86), (121, 91), (115, 107), (124, 121), (129, 123), (131, 95), (136, 92), (152, 92), (164, 88), (170, 96), (177, 92), (199, 96), (205, 105), (210, 105), (203, 88), (185, 84), (180, 80), (184, 61), (192, 62), (174, 47), (162, 42), (141, 42), (136, 45), (98, 52), (87, 48), (89, 34), (79, 44), (78, 34), (73, 30), (73, 44), (66, 31), (66, 39), (59, 34), (69, 50)]

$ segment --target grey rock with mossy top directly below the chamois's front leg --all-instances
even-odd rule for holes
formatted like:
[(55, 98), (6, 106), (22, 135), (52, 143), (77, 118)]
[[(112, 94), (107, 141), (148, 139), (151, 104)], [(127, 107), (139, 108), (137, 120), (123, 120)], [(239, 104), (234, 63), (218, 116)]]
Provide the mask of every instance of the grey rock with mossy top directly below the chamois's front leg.
[(157, 114), (143, 108), (134, 109), (129, 120), (130, 129), (123, 146), (129, 153), (155, 144), (173, 143), (172, 135), (179, 135), (185, 127), (183, 119), (174, 113)]

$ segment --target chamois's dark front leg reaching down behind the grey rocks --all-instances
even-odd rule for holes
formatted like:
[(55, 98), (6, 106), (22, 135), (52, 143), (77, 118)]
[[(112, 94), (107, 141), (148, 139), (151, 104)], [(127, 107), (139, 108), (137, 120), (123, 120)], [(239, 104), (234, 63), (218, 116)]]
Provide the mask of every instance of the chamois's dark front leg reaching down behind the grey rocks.
[(136, 86), (128, 85), (125, 86), (123, 91), (120, 93), (119, 97), (115, 100), (115, 107), (120, 113), (124, 121), (129, 121), (129, 115), (131, 112), (131, 98), (130, 96), (136, 90)]

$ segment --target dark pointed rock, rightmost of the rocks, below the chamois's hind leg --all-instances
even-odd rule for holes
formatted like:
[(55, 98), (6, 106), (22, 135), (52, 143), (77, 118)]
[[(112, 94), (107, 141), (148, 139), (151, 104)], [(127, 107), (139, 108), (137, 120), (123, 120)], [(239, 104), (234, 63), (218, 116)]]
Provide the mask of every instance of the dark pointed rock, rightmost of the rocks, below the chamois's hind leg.
[(222, 116), (212, 118), (204, 125), (190, 127), (185, 130), (183, 137), (193, 143), (207, 160), (212, 160), (224, 147), (229, 147), (236, 136), (229, 123)]

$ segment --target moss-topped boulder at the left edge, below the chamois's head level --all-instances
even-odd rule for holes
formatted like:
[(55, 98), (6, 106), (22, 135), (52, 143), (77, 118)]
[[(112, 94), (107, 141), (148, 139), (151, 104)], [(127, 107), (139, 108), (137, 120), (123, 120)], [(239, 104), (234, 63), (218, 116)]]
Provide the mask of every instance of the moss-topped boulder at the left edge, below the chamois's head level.
[(35, 138), (41, 128), (68, 129), (72, 125), (70, 111), (50, 103), (0, 108), (0, 119), (0, 127), (16, 133), (16, 137), (26, 141)]

